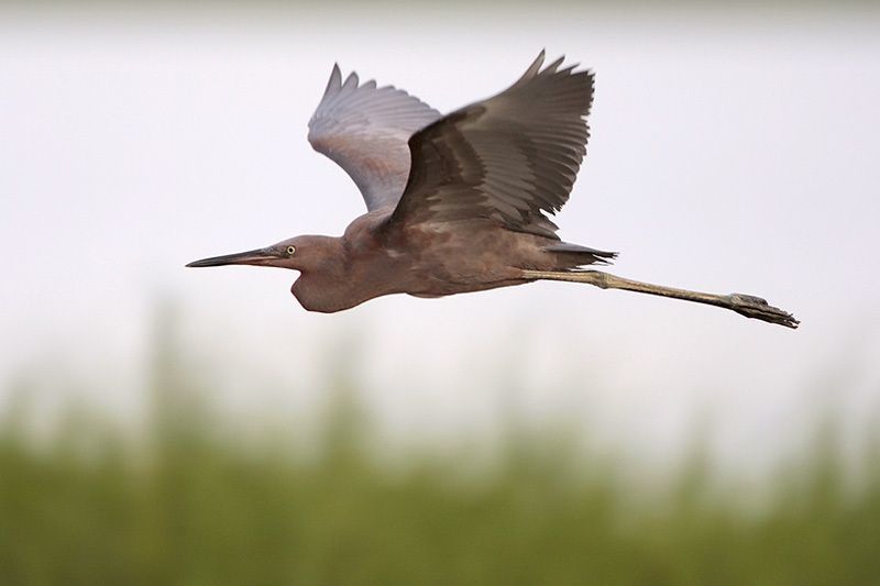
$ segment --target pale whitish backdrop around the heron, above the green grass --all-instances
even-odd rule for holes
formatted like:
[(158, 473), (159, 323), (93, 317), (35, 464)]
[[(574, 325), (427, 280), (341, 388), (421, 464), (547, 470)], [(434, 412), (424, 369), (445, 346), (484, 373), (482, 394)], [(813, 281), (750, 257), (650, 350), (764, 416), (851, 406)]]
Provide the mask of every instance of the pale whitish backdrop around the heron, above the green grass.
[[(389, 443), (473, 436), (512, 406), (649, 456), (705, 416), (745, 462), (801, 441), (824, 405), (876, 424), (878, 13), (667, 8), (0, 9), (0, 388), (38, 371), (136, 406), (170, 298), (246, 424), (305, 424), (328, 351), (359, 342)], [(334, 62), (449, 111), (542, 47), (596, 71), (562, 236), (620, 251), (623, 276), (766, 297), (799, 331), (571, 284), (312, 314), (295, 273), (184, 269), (364, 211), (306, 142)]]

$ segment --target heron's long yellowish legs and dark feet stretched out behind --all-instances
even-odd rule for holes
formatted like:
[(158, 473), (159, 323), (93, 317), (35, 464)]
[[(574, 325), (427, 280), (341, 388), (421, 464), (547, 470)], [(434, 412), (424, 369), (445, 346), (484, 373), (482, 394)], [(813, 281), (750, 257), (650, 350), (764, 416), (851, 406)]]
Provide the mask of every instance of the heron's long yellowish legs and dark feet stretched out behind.
[(603, 273), (602, 270), (522, 270), (522, 276), (527, 279), (586, 283), (588, 285), (595, 285), (602, 289), (624, 289), (627, 291), (644, 292), (660, 297), (671, 297), (673, 299), (684, 299), (685, 301), (695, 301), (697, 303), (723, 307), (736, 311), (740, 316), (755, 318), (770, 323), (778, 323), (779, 325), (784, 325), (785, 328), (794, 329), (798, 328), (798, 324), (800, 323), (796, 319), (794, 319), (794, 316), (788, 311), (776, 308), (760, 297), (754, 297), (751, 295), (715, 295), (700, 291), (689, 291), (686, 289), (675, 289), (673, 287), (663, 287), (662, 285), (651, 285), (650, 283), (640, 283), (638, 280), (626, 279), (616, 275), (612, 275), (610, 273)]

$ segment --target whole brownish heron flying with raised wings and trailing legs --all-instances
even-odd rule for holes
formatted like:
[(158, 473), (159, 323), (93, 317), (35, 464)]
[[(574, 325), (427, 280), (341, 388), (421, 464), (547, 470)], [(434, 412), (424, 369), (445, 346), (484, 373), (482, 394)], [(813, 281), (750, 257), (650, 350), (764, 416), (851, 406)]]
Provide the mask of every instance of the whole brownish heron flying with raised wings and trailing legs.
[(586, 155), (593, 74), (543, 51), (509, 88), (442, 115), (392, 86), (343, 81), (339, 66), (309, 121), (312, 147), (351, 176), (367, 212), (342, 236), (301, 235), (190, 267), (299, 272), (310, 311), (375, 297), (442, 297), (539, 279), (658, 295), (788, 328), (798, 320), (749, 295), (714, 295), (587, 269), (616, 253), (562, 241), (550, 214), (568, 201)]

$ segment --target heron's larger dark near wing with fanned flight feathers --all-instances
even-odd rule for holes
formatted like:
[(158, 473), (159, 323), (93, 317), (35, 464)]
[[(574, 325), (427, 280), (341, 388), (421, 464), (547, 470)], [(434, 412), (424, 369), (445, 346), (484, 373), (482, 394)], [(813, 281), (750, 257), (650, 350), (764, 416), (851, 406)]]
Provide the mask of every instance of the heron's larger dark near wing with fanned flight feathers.
[(593, 74), (541, 69), (538, 56), (502, 93), (452, 112), (409, 140), (413, 168), (392, 221), (484, 218), (557, 237), (546, 215), (569, 199), (586, 154)]

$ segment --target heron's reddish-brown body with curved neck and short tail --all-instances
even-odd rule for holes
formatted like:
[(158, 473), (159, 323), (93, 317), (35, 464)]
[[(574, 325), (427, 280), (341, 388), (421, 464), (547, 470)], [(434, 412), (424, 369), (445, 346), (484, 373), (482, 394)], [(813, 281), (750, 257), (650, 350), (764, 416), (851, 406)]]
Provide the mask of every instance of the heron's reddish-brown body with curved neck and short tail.
[[(292, 291), (304, 308), (333, 312), (383, 295), (443, 297), (482, 291), (527, 283), (524, 269), (566, 270), (600, 258), (586, 251), (553, 252), (548, 248), (559, 241), (484, 226), (482, 221), (457, 230), (396, 226), (391, 213), (387, 209), (365, 213), (340, 237), (308, 235), (285, 241), (301, 259), (296, 264), (300, 277)], [(309, 263), (312, 257), (319, 261)]]

